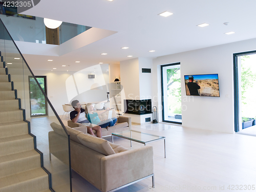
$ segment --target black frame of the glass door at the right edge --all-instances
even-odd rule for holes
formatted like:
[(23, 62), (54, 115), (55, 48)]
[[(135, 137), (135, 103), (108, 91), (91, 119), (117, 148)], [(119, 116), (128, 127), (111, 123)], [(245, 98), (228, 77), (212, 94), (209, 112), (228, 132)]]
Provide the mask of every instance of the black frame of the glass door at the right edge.
[(247, 51), (233, 54), (233, 75), (234, 75), (234, 132), (239, 132), (239, 84), (238, 84), (238, 57), (243, 55), (256, 54), (255, 51)]

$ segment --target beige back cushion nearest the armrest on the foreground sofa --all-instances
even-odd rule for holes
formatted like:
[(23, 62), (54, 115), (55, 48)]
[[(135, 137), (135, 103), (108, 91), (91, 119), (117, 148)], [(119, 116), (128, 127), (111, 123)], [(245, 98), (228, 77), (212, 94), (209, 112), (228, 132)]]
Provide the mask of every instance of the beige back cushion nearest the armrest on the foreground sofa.
[(92, 135), (89, 134), (78, 134), (77, 138), (84, 146), (87, 146), (92, 150), (99, 152), (103, 155), (107, 156), (115, 154), (109, 142), (105, 139), (93, 137)]

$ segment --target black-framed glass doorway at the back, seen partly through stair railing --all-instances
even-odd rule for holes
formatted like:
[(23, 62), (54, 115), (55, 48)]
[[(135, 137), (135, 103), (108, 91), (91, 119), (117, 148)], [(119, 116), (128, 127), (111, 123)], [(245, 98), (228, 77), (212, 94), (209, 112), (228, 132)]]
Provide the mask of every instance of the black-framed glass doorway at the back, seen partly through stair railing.
[[(47, 94), (46, 76), (35, 76), (42, 90)], [(47, 101), (38, 87), (34, 77), (29, 76), (29, 100), (30, 100), (30, 117), (47, 116)]]

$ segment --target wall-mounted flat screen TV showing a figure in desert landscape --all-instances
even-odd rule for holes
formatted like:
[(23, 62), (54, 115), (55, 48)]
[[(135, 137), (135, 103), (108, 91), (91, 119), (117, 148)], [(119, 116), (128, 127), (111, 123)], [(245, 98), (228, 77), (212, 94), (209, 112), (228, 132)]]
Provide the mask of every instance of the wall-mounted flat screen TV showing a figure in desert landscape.
[(220, 97), (218, 74), (184, 75), (186, 95)]

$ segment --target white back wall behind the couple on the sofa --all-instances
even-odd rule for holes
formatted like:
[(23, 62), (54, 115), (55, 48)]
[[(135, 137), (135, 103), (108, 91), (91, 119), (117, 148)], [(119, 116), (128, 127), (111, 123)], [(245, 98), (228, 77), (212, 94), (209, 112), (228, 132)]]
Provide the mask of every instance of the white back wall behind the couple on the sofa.
[[(66, 81), (74, 72), (64, 72), (64, 71), (33, 71), (35, 76), (43, 75), (47, 76), (47, 95), (51, 103), (53, 104), (54, 109), (58, 115), (63, 114), (62, 104), (70, 103), (70, 101), (78, 99), (80, 102), (96, 102), (106, 100), (106, 87), (103, 87), (103, 90), (87, 90), (79, 94), (75, 94), (71, 100), (69, 100), (68, 93), (72, 91), (71, 87), (66, 86)], [(109, 74), (103, 72), (102, 78), (105, 80), (105, 83), (109, 83)], [(84, 77), (84, 86), (88, 83), (88, 76)], [(91, 83), (90, 83), (91, 86)], [(90, 89), (90, 88), (89, 88)], [(76, 88), (73, 86), (73, 91), (76, 91)], [(77, 93), (77, 92), (75, 92)], [(49, 108), (49, 107), (48, 107)], [(54, 116), (52, 110), (49, 108), (49, 116)]]

